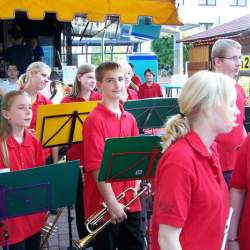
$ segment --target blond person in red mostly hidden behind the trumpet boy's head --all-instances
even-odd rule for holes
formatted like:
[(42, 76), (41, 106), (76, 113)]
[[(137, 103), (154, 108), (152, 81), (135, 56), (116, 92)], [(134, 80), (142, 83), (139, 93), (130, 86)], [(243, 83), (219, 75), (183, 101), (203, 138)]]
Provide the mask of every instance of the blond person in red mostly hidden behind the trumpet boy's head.
[(133, 82), (131, 81), (133, 70), (128, 63), (124, 63), (122, 65), (122, 68), (124, 69), (125, 88), (121, 100), (123, 102), (126, 102), (128, 100), (137, 100), (137, 92), (134, 89), (130, 88), (131, 84), (133, 84)]

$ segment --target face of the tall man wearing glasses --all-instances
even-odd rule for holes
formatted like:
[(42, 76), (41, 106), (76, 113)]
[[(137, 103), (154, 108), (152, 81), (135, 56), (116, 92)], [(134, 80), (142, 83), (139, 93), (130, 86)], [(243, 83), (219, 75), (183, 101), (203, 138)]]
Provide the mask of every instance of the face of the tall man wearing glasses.
[(215, 71), (236, 78), (241, 66), (241, 50), (235, 47), (228, 49), (223, 58), (215, 58)]

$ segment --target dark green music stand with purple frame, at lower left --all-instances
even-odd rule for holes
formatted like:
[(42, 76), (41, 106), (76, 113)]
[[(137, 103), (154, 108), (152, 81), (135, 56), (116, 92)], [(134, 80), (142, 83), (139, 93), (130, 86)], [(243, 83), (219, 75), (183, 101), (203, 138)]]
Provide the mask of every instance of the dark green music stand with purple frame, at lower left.
[(1, 173), (0, 220), (74, 204), (78, 175), (79, 161)]

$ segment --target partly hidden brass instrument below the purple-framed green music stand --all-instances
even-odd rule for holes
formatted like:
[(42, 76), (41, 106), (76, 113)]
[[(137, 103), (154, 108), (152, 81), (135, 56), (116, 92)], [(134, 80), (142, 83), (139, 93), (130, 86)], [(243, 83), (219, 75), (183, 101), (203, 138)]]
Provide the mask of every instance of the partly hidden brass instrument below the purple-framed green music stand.
[[(56, 223), (57, 223), (58, 219), (60, 218), (62, 212), (63, 212), (63, 208), (57, 209), (57, 214), (56, 214), (56, 217), (54, 218), (53, 222), (50, 222), (43, 227), (43, 229), (42, 229), (42, 241), (41, 241), (40, 249), (43, 249), (47, 245), (49, 237), (56, 233), (56, 230), (57, 230)], [(49, 217), (49, 215), (46, 216), (46, 221), (47, 221), (48, 217)]]

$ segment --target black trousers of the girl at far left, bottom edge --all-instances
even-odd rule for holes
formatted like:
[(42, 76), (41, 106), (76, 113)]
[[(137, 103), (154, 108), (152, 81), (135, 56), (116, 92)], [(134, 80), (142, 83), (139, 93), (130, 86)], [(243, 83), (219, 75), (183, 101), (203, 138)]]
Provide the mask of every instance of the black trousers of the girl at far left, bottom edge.
[[(28, 237), (27, 239), (10, 245), (10, 250), (40, 250), (41, 232)], [(6, 247), (3, 248), (6, 250)]]

